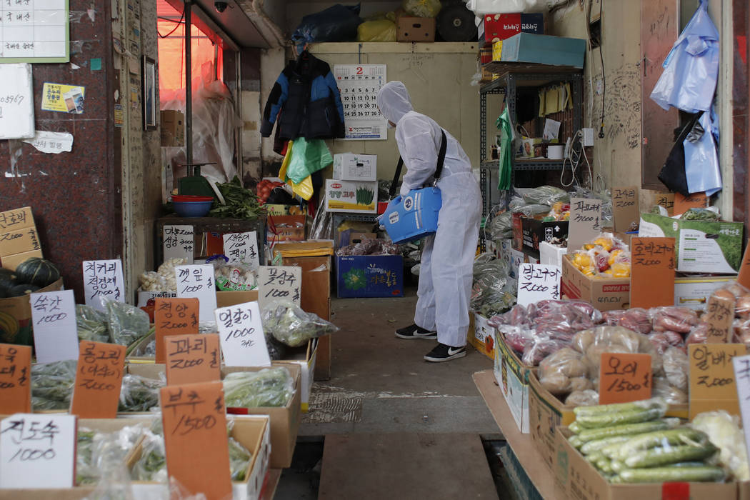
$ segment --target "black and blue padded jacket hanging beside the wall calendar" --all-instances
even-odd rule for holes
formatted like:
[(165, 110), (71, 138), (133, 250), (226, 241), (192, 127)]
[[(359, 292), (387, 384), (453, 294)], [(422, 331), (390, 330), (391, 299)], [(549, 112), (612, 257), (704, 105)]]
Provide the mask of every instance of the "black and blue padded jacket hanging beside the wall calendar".
[(266, 102), (260, 135), (271, 136), (276, 121), (281, 139), (344, 137), (344, 105), (326, 61), (303, 50), (287, 64)]

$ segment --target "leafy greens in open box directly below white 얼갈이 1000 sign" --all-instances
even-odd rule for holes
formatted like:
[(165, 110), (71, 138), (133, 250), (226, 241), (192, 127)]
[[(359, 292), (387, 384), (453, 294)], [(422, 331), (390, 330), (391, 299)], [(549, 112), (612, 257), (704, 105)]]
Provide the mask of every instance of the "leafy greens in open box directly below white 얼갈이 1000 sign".
[(294, 381), (283, 367), (260, 372), (227, 373), (223, 381), (227, 408), (287, 406), (294, 393)]

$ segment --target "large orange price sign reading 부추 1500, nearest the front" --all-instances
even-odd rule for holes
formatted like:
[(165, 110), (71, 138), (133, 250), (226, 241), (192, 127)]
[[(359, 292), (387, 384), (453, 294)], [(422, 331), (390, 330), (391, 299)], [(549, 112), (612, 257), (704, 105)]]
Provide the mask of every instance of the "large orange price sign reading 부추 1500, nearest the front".
[(169, 477), (190, 495), (203, 493), (208, 500), (232, 498), (221, 382), (163, 388), (161, 409)]

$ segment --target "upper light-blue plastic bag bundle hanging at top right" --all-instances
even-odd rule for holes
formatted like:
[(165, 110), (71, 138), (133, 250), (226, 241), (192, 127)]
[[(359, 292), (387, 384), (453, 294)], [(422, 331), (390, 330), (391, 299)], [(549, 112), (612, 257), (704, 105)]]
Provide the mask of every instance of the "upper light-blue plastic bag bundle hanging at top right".
[(659, 106), (688, 113), (708, 111), (718, 78), (718, 31), (700, 0), (692, 19), (664, 59), (664, 72), (651, 92)]

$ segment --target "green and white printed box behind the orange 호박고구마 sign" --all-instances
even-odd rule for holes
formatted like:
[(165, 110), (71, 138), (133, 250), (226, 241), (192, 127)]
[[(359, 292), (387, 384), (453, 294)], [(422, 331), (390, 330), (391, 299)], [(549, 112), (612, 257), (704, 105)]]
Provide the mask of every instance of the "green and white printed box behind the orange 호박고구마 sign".
[(679, 220), (640, 214), (638, 236), (674, 238), (676, 271), (736, 274), (742, 262), (741, 222)]

